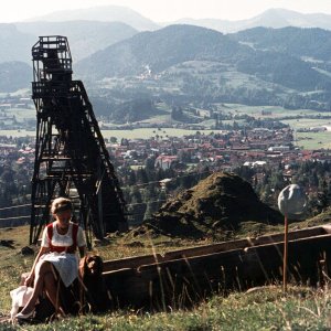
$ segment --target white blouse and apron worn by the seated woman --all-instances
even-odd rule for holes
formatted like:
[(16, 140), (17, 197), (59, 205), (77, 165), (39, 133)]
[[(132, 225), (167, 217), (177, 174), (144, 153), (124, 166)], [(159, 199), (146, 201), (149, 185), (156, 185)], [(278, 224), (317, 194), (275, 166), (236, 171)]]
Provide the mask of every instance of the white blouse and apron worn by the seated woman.
[[(54, 222), (55, 223), (55, 222)], [(53, 226), (53, 235), (52, 235), (52, 245), (53, 246), (64, 246), (70, 247), (73, 245), (73, 223), (70, 223), (68, 231), (65, 235), (61, 235), (56, 231), (56, 226)], [(47, 228), (44, 228), (42, 235), (42, 247), (50, 247), (50, 238), (47, 234)], [(77, 232), (77, 247), (86, 246), (85, 236), (82, 227), (78, 227)], [(40, 257), (36, 266), (35, 273), (39, 273), (39, 269), (43, 261), (50, 261), (56, 268), (63, 284), (65, 287), (68, 287), (75, 278), (78, 276), (78, 256), (76, 254), (71, 253), (57, 253), (51, 252), (44, 254)]]

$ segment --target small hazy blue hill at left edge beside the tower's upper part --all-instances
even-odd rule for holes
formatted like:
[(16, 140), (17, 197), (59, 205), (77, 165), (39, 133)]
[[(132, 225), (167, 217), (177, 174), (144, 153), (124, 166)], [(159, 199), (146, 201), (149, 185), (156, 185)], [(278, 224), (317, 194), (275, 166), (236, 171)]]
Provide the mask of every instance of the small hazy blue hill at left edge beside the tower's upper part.
[(0, 63), (0, 90), (15, 92), (30, 85), (32, 68), (24, 62)]

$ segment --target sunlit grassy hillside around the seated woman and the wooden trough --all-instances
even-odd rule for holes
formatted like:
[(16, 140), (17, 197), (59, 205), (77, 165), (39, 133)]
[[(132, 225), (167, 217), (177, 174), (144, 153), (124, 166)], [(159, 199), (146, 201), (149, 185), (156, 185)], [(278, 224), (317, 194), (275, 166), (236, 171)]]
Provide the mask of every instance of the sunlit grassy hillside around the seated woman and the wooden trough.
[[(324, 223), (330, 213), (291, 227), (305, 227)], [(248, 226), (248, 225), (247, 225)], [(268, 227), (259, 232), (275, 232), (281, 228)], [(255, 233), (254, 226), (250, 232)], [(247, 235), (246, 229), (243, 229)], [(256, 233), (257, 234), (257, 233)], [(260, 233), (259, 233), (260, 234)], [(0, 314), (10, 310), (9, 291), (18, 286), (22, 271), (30, 269), (33, 256), (23, 257), (20, 249), (26, 245), (29, 227), (4, 228), (1, 239), (13, 239), (14, 248), (0, 246)], [(140, 241), (140, 245), (136, 245)], [(109, 238), (109, 244), (95, 248), (104, 259), (163, 253), (179, 248), (206, 244), (169, 238), (137, 238), (129, 236)], [(24, 330), (330, 330), (331, 292), (312, 291), (307, 288), (292, 288), (287, 295), (281, 286), (256, 289), (250, 293), (232, 293), (228, 297), (215, 295), (191, 310), (174, 310), (159, 313), (142, 313), (132, 310), (109, 312), (100, 316), (66, 318), (52, 324), (28, 325)], [(171, 310), (171, 309), (170, 309)], [(0, 330), (11, 329), (0, 324)]]

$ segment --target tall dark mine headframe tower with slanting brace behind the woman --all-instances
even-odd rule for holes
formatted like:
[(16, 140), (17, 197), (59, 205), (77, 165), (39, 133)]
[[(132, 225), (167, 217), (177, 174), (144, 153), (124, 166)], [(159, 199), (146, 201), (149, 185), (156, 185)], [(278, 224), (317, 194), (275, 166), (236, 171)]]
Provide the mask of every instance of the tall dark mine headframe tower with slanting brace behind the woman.
[(81, 81), (72, 79), (65, 36), (40, 36), (32, 47), (32, 98), (36, 108), (30, 243), (51, 222), (57, 196), (73, 200), (74, 217), (97, 238), (127, 226), (114, 166)]

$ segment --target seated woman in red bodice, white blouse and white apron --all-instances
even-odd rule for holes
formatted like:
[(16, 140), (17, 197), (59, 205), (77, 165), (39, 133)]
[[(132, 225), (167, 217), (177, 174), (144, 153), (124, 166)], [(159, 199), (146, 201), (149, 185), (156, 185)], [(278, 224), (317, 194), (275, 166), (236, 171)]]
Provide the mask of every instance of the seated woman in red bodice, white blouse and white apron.
[(71, 222), (73, 205), (71, 200), (57, 197), (53, 201), (51, 212), (55, 221), (49, 224), (43, 232), (40, 252), (33, 263), (31, 273), (25, 279), (26, 286), (32, 286), (33, 293), (23, 307), (17, 319), (23, 320), (33, 316), (39, 296), (45, 291), (55, 311), (57, 300), (57, 270), (65, 287), (68, 287), (78, 276), (78, 258), (75, 255), (79, 249), (81, 257), (86, 254), (86, 242), (83, 229)]

